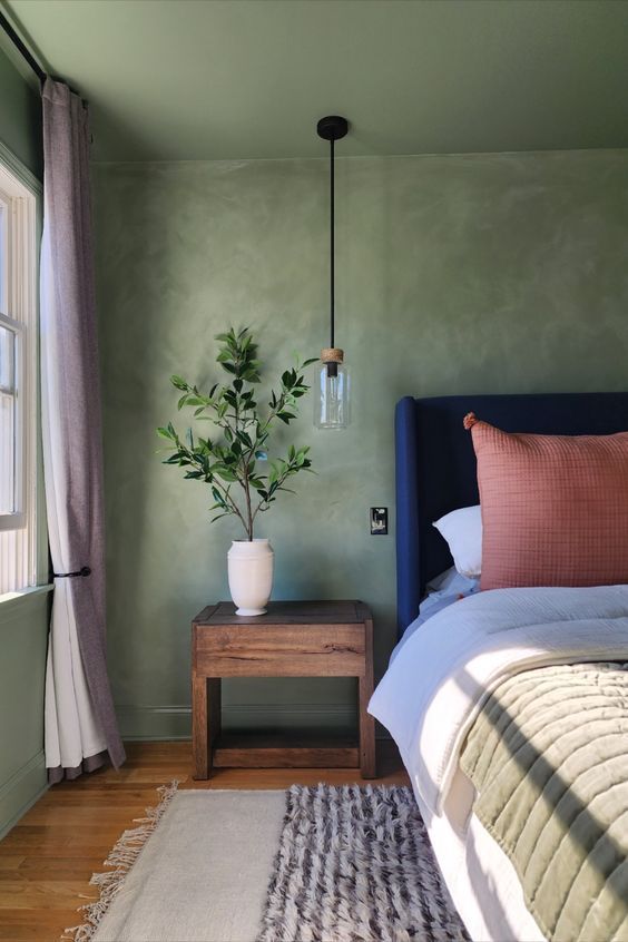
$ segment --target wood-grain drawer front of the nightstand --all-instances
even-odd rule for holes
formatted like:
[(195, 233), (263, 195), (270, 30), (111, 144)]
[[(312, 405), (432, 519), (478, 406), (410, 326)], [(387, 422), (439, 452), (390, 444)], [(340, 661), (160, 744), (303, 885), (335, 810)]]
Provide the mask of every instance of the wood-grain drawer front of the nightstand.
[(362, 677), (363, 625), (195, 626), (194, 665), (207, 677)]

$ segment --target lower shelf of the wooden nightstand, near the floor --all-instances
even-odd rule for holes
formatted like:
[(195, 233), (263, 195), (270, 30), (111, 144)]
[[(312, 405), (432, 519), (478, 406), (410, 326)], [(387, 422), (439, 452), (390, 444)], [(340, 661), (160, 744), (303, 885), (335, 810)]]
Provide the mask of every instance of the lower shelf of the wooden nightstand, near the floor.
[(214, 743), (216, 768), (355, 768), (357, 740), (307, 733), (223, 733)]

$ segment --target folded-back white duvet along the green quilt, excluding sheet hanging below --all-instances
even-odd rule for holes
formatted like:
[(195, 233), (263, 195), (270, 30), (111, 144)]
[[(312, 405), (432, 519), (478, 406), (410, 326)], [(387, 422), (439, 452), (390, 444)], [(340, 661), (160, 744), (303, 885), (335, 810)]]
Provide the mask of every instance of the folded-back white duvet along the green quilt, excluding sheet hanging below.
[(441, 814), (464, 736), (499, 683), (528, 667), (628, 659), (628, 586), (493, 589), (438, 612), (409, 638), (369, 712), (413, 786)]

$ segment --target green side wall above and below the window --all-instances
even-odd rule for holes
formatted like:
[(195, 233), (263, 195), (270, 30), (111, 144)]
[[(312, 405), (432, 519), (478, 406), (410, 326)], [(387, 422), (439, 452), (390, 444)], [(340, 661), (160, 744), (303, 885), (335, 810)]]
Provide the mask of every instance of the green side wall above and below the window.
[[(41, 112), (36, 91), (0, 49), (0, 159), (13, 156), (41, 178)], [(7, 154), (6, 149), (10, 151)], [(43, 513), (43, 508), (40, 508)], [(41, 542), (45, 543), (43, 531)], [(46, 553), (41, 572), (46, 575)], [(43, 679), (48, 593), (0, 600), (0, 837), (46, 788)]]

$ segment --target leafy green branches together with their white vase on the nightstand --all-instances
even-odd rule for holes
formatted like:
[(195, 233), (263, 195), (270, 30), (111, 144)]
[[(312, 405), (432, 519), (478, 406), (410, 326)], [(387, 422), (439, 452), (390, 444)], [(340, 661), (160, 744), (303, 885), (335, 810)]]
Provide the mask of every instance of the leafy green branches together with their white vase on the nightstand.
[[(210, 510), (219, 511), (213, 519), (236, 517), (246, 533), (234, 540), (228, 551), (229, 591), (237, 606), (237, 615), (263, 615), (273, 588), (274, 552), (267, 539), (255, 539), (255, 522), (275, 503), (288, 478), (310, 471), (308, 447), (291, 445), (286, 458), (276, 458), (266, 473), (259, 462), (266, 462), (268, 439), (277, 422), (290, 425), (296, 418), (298, 400), (310, 386), (302, 370), (314, 360), (297, 363), (282, 373), (279, 389), (272, 390), (265, 411), (259, 409), (255, 386), (259, 383), (261, 363), (256, 359), (257, 344), (248, 330), (218, 334), (220, 347), (216, 357), (228, 374), (225, 384), (215, 383), (208, 393), (192, 385), (181, 376), (170, 376), (183, 395), (179, 411), (194, 410), (194, 419), (209, 422), (214, 428), (205, 438), (187, 429), (185, 435), (169, 422), (157, 429), (173, 454), (164, 464), (185, 469), (185, 478), (203, 481), (212, 490)], [(291, 491), (291, 493), (294, 493)]]

